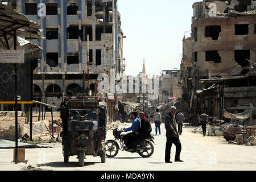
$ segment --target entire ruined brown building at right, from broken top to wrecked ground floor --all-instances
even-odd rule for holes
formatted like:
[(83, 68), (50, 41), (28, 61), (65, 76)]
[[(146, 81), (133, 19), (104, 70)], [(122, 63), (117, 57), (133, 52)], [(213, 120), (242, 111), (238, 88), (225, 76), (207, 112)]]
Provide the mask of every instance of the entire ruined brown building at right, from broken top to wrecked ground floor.
[(217, 121), (230, 106), (255, 106), (255, 60), (256, 1), (194, 3), (181, 61), (184, 106), (192, 122), (202, 110)]

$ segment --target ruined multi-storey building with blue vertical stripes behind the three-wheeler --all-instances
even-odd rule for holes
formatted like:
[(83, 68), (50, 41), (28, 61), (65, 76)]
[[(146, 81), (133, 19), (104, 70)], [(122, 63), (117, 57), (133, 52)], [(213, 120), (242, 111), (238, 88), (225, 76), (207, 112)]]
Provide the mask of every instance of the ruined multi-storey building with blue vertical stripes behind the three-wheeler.
[(37, 22), (46, 38), (31, 40), (43, 48), (34, 65), (35, 100), (46, 96), (51, 100), (44, 102), (60, 106), (63, 93), (87, 89), (88, 43), (93, 92), (100, 73), (123, 72), (124, 35), (117, 7), (117, 0), (16, 0), (16, 10)]

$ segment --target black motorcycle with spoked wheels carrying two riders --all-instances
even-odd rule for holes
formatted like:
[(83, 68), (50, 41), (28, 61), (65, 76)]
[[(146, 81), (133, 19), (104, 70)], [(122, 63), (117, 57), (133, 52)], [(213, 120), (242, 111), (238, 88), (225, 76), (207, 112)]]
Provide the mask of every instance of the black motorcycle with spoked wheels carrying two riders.
[(114, 129), (113, 135), (115, 139), (107, 140), (107, 142), (105, 143), (106, 156), (108, 158), (114, 158), (114, 156), (118, 154), (119, 150), (131, 153), (138, 153), (143, 158), (149, 158), (154, 153), (154, 145), (152, 144), (154, 143), (154, 137), (152, 137), (152, 135), (147, 138), (141, 139), (141, 147), (139, 148), (129, 147), (135, 142), (133, 133), (123, 134), (118, 129)]

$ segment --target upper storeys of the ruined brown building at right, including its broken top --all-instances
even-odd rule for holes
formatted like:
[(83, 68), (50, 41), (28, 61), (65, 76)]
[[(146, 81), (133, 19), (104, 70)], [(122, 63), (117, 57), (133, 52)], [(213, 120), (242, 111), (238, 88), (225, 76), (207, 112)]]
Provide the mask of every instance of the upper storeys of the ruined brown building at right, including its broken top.
[(256, 60), (256, 1), (204, 0), (193, 10), (192, 55), (200, 77), (245, 75), (246, 59)]

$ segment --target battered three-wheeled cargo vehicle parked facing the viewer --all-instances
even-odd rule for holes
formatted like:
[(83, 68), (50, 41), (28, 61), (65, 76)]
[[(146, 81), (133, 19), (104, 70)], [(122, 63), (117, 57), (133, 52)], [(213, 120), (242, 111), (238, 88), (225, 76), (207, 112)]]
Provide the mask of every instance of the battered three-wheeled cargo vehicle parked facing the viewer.
[(69, 156), (77, 155), (79, 166), (85, 156), (100, 156), (105, 163), (106, 107), (100, 106), (98, 97), (65, 97), (61, 104), (61, 132), (64, 163)]

